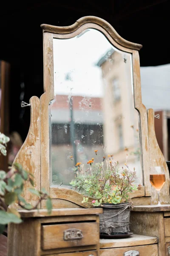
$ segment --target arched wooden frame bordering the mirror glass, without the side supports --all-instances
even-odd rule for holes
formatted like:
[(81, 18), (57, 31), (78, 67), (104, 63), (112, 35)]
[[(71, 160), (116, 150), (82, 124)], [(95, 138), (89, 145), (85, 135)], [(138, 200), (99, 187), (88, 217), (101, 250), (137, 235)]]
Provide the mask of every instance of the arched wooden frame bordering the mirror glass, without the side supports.
[[(141, 82), (140, 82), (140, 62), (139, 50), (142, 48), (140, 44), (134, 44), (126, 41), (113, 29), (113, 27), (105, 20), (87, 16), (77, 20), (71, 26), (59, 27), (42, 24), (43, 29), (43, 63), (44, 63), (44, 93), (40, 97), (40, 121), (41, 121), (41, 187), (49, 192), (51, 198), (56, 200), (64, 200), (65, 207), (70, 202), (79, 207), (91, 207), (91, 205), (82, 204), (83, 195), (67, 188), (50, 187), (49, 174), (49, 122), (48, 122), (48, 105), (54, 99), (54, 61), (53, 61), (53, 38), (73, 38), (85, 29), (93, 28), (105, 35), (110, 43), (123, 52), (132, 54), (133, 64), (133, 95), (134, 107), (139, 112), (140, 131), (141, 131), (141, 148), (142, 148), (142, 171), (144, 186), (142, 189), (132, 193), (132, 198), (139, 198), (141, 202), (145, 202), (144, 196), (151, 197), (151, 184), (149, 180), (149, 135), (148, 135), (148, 119), (147, 110), (142, 104)], [(166, 162), (165, 162), (166, 163)], [(167, 170), (166, 170), (167, 171)], [(167, 175), (167, 186), (170, 183)], [(142, 197), (142, 198), (141, 198)], [(148, 199), (148, 198), (146, 198)], [(91, 198), (92, 200), (92, 198)], [(168, 198), (165, 203), (170, 202)], [(148, 200), (147, 200), (148, 202)], [(144, 203), (142, 203), (144, 204)], [(148, 203), (147, 203), (148, 204)], [(150, 203), (149, 203), (150, 204)], [(57, 207), (56, 207), (57, 206)], [(54, 203), (54, 207), (61, 208)]]

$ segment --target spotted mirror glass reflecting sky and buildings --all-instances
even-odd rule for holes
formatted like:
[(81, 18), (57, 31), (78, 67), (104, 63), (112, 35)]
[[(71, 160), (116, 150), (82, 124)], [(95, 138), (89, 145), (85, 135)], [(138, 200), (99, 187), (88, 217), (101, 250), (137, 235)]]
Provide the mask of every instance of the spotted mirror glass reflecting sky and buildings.
[[(133, 103), (132, 56), (96, 29), (53, 39), (54, 100), (49, 104), (51, 186), (71, 188), (74, 166), (112, 155), (135, 167), (142, 183), (139, 114)], [(97, 152), (97, 155), (95, 153)]]

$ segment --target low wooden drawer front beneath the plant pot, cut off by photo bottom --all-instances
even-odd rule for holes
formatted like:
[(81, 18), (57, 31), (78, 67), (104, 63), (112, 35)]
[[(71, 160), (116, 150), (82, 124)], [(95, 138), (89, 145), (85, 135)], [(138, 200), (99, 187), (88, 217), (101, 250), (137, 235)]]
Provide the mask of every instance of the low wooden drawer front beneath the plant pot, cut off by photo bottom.
[[(123, 241), (122, 241), (123, 243)], [(130, 251), (139, 252), (139, 254), (130, 254)], [(151, 245), (142, 245), (142, 246), (132, 246), (132, 247), (120, 247), (120, 248), (109, 248), (109, 249), (101, 249), (100, 256), (124, 256), (127, 254), (128, 256), (158, 256), (158, 246), (157, 244)]]

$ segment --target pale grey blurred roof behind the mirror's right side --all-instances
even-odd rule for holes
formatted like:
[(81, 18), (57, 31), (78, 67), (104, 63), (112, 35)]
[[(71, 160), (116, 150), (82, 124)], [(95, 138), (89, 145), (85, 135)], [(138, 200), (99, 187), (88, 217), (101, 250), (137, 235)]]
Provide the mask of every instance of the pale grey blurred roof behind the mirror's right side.
[(170, 64), (141, 67), (142, 103), (154, 110), (170, 110)]

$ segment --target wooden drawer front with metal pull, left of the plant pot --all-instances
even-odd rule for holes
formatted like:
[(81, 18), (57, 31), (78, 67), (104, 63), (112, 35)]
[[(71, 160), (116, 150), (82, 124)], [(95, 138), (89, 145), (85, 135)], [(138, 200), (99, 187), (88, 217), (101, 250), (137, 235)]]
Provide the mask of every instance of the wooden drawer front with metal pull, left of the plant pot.
[[(66, 234), (66, 230), (70, 229), (81, 230), (83, 237), (81, 239), (72, 239), (68, 236), (70, 240), (65, 240), (64, 234)], [(99, 224), (96, 222), (42, 226), (41, 247), (43, 250), (97, 243), (99, 243)]]

